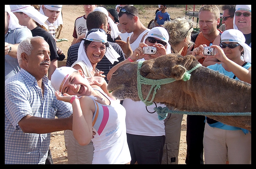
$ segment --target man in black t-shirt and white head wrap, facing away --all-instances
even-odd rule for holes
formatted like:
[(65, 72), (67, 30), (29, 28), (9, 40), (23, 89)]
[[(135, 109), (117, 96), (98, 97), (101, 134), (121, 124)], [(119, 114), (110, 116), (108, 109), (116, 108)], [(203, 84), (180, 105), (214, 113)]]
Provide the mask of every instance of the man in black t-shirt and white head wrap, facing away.
[[(57, 53), (57, 46), (55, 39), (46, 30), (40, 26), (48, 28), (44, 23), (48, 17), (41, 14), (31, 5), (10, 5), (11, 11), (19, 19), (19, 23), (23, 26), (27, 26), (32, 32), (33, 36), (42, 36), (50, 47), (51, 65), (49, 67), (48, 78), (51, 80), (52, 73), (58, 67), (59, 55)], [(38, 24), (40, 25), (38, 25)], [(61, 51), (60, 51), (61, 52)]]

